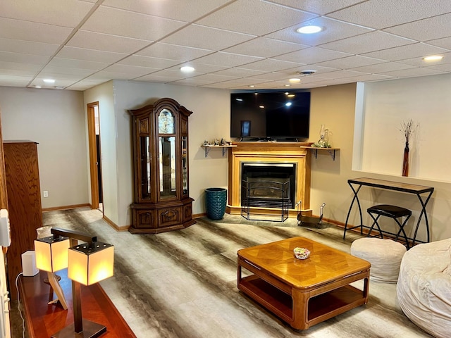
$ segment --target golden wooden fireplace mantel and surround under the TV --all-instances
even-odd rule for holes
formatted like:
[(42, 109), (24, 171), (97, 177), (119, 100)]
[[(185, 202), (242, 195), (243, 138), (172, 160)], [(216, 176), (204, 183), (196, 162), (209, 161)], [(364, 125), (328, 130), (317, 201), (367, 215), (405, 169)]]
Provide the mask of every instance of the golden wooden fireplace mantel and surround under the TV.
[[(311, 213), (310, 209), (310, 173), (311, 156), (307, 142), (233, 142), (228, 153), (228, 206), (230, 214), (241, 213), (241, 164), (245, 163), (296, 163), (295, 204), (302, 201), (302, 214)], [(254, 213), (272, 214), (271, 208), (251, 208)], [(290, 217), (297, 215), (296, 209), (290, 209)]]

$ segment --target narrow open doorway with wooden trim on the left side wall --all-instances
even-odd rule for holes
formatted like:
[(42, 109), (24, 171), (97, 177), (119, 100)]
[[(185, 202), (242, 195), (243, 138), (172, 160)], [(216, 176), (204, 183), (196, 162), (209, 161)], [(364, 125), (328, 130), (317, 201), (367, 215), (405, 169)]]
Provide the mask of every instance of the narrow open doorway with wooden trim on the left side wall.
[(91, 174), (91, 208), (99, 209), (103, 213), (99, 102), (87, 104), (87, 130), (89, 142), (89, 173)]

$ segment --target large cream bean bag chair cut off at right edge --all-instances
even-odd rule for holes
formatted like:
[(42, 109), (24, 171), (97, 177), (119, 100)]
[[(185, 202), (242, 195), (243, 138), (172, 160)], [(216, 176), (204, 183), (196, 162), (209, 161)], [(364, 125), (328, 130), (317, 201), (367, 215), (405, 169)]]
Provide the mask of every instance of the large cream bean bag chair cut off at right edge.
[(451, 238), (407, 251), (397, 299), (413, 323), (434, 337), (451, 337)]

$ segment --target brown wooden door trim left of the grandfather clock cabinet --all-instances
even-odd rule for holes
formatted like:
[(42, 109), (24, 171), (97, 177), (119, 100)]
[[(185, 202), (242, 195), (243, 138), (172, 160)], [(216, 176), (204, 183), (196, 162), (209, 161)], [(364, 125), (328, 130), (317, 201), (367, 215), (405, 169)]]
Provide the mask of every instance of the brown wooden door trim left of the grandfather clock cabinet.
[(87, 104), (87, 133), (89, 144), (89, 174), (91, 175), (92, 209), (99, 208), (99, 178), (97, 175), (97, 166), (101, 165), (101, 163), (97, 162), (96, 120), (94, 113), (94, 107), (96, 106), (99, 109), (99, 101)]

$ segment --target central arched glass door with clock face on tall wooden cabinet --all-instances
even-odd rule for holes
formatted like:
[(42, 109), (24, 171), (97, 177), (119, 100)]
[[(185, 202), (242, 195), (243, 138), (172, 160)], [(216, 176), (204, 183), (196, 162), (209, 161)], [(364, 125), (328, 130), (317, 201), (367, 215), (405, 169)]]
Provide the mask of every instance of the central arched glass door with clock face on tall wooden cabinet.
[(177, 196), (175, 128), (174, 114), (166, 108), (162, 109), (158, 115), (159, 189), (161, 199)]

